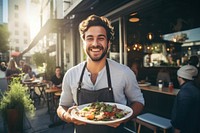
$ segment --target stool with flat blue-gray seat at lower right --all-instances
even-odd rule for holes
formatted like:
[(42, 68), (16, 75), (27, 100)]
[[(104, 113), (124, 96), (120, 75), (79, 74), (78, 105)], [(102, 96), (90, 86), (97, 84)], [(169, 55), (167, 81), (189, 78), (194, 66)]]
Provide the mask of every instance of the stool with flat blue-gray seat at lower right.
[(140, 133), (141, 125), (153, 130), (154, 133), (157, 133), (158, 128), (162, 129), (163, 133), (167, 133), (167, 130), (172, 127), (169, 119), (151, 113), (137, 116), (135, 122), (139, 124), (137, 133)]

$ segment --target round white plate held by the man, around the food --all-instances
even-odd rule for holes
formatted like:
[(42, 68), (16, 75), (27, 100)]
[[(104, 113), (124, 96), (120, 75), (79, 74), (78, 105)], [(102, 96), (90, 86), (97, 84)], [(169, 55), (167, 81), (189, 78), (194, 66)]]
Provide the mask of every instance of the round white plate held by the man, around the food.
[[(124, 110), (126, 112), (129, 112), (129, 113), (126, 116), (122, 117), (121, 119), (115, 119), (115, 120), (112, 120), (112, 121), (94, 121), (94, 120), (88, 120), (88, 119), (86, 119), (84, 117), (78, 116), (76, 114), (76, 112), (78, 111), (77, 109), (73, 109), (71, 111), (71, 115), (75, 119), (77, 119), (79, 121), (82, 121), (82, 122), (86, 122), (86, 123), (89, 123), (89, 124), (96, 124), (96, 125), (106, 125), (106, 124), (111, 124), (111, 123), (115, 123), (115, 122), (120, 122), (120, 121), (126, 120), (129, 117), (131, 117), (131, 115), (133, 114), (133, 110), (130, 107), (126, 106), (126, 105), (122, 105), (122, 104), (118, 104), (118, 103), (109, 103), (109, 102), (104, 102), (104, 103), (105, 104), (109, 104), (109, 105), (116, 105), (117, 108), (122, 109), (122, 110)], [(80, 105), (80, 106), (78, 106), (78, 109), (82, 109), (82, 108), (84, 108), (84, 107), (86, 107), (86, 106), (88, 106), (90, 104), (91, 103)]]

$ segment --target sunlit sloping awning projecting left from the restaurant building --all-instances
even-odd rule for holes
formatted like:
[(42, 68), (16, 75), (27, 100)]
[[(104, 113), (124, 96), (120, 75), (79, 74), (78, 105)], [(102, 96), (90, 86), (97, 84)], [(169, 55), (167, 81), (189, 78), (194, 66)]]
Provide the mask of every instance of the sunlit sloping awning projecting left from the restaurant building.
[(67, 19), (49, 19), (40, 29), (39, 33), (36, 35), (30, 45), (21, 53), (21, 55), (30, 51), (46, 34), (55, 33), (59, 30), (62, 30), (67, 23)]

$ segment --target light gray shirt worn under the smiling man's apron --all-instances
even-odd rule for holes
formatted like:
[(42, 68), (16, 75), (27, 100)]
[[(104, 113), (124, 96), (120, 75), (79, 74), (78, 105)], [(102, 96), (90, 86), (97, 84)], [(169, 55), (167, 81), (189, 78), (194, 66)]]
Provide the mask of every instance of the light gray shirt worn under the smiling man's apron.
[[(136, 77), (130, 68), (113, 60), (107, 60), (110, 68), (115, 102), (126, 105), (126, 98), (128, 98), (130, 102), (138, 101), (144, 104), (143, 94), (141, 93)], [(66, 72), (62, 83), (60, 105), (70, 107), (73, 104), (77, 104), (78, 82), (80, 80), (84, 64), (85, 62), (82, 62)], [(95, 84), (92, 83), (90, 75), (91, 73), (85, 69), (82, 88), (99, 90), (108, 87), (106, 66), (98, 73)]]

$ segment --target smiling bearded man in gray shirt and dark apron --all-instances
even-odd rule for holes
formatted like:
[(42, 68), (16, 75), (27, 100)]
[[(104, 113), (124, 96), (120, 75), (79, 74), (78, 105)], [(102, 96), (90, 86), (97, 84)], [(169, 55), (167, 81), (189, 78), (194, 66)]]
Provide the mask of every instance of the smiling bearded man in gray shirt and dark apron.
[(126, 105), (130, 102), (133, 118), (142, 111), (144, 105), (133, 72), (127, 66), (107, 59), (114, 35), (110, 21), (91, 15), (79, 25), (79, 32), (87, 60), (65, 74), (57, 114), (62, 120), (74, 123), (76, 133), (123, 133), (122, 122), (106, 126), (91, 125), (70, 115), (73, 104), (103, 101)]

